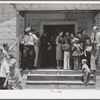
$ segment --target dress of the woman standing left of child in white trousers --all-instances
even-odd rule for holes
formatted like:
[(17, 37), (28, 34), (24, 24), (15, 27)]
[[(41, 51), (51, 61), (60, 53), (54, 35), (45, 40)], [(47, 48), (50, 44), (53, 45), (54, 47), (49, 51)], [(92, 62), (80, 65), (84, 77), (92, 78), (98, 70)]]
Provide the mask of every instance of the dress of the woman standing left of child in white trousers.
[[(62, 44), (62, 37), (57, 36), (56, 42)], [(56, 44), (56, 60), (62, 60), (62, 46)]]

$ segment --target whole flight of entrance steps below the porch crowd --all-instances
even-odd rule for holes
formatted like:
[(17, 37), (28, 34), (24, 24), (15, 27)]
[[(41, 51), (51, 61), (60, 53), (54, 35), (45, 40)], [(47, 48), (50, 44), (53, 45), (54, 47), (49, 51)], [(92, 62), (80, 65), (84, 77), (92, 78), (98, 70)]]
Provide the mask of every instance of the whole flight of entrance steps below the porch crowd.
[(82, 71), (41, 69), (27, 74), (26, 86), (30, 89), (93, 89), (95, 88), (94, 75), (85, 86), (82, 82)]

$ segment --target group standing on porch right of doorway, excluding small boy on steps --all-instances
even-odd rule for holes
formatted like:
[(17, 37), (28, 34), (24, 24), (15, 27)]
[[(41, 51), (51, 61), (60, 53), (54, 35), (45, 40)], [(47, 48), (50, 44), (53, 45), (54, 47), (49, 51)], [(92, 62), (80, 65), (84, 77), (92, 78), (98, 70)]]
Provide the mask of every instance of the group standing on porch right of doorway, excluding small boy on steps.
[(86, 59), (88, 67), (91, 70), (96, 70), (99, 35), (97, 26), (93, 27), (91, 37), (86, 35), (85, 31), (77, 32), (77, 34), (66, 32), (65, 36), (62, 37), (63, 32), (61, 31), (56, 38), (57, 68), (81, 70), (81, 60)]

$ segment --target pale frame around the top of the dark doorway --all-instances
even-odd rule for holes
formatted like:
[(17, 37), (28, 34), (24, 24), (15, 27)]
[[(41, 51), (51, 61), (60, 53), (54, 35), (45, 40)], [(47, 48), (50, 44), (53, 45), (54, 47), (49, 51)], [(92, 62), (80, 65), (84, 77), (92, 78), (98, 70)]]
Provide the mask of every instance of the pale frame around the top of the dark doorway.
[(43, 34), (44, 25), (75, 25), (75, 33), (78, 32), (78, 21), (53, 21), (53, 22), (41, 22), (40, 23), (40, 36)]

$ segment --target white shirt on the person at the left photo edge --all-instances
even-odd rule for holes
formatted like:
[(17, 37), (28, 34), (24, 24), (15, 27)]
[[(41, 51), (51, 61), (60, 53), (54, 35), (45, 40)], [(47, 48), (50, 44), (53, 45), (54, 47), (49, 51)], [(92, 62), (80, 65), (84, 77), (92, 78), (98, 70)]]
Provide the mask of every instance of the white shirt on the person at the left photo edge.
[(0, 77), (6, 77), (7, 73), (9, 73), (9, 64), (3, 60), (0, 66)]

